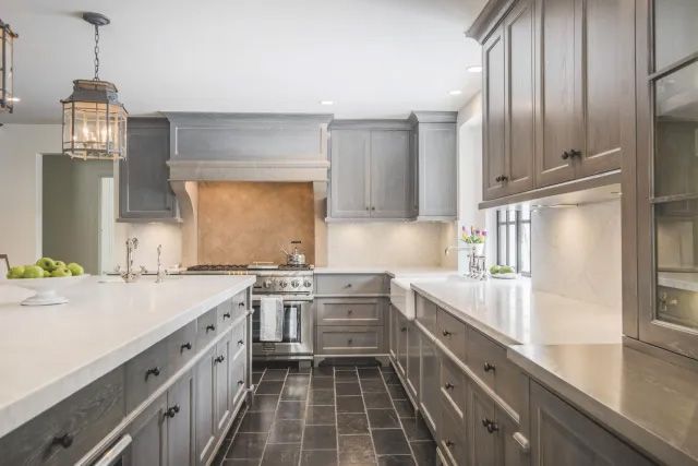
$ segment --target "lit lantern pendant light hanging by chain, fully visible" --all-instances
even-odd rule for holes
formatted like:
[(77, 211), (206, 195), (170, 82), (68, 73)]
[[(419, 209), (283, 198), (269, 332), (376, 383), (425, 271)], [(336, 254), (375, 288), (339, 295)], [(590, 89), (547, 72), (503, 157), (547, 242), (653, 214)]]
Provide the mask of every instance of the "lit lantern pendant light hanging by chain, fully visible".
[(99, 79), (99, 27), (109, 19), (83, 13), (95, 26), (95, 77), (73, 81), (63, 105), (63, 154), (83, 159), (120, 159), (127, 156), (127, 116), (117, 86)]

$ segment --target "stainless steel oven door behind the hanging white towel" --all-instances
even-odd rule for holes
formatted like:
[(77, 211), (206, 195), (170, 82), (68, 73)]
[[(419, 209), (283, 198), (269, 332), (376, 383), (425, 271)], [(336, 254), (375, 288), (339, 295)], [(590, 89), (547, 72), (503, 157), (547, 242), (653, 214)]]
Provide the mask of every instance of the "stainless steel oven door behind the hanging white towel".
[(281, 342), (260, 342), (260, 299), (252, 298), (252, 357), (254, 359), (312, 359), (313, 302), (284, 300)]

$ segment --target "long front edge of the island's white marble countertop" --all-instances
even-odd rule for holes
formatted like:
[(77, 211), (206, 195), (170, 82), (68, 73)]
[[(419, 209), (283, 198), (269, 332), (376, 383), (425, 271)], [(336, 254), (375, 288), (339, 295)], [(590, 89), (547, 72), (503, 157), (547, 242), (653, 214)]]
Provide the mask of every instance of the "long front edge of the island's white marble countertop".
[(25, 396), (11, 401), (9, 404), (0, 407), (0, 438), (61, 403), (100, 377), (122, 366), (134, 356), (149, 348), (189, 322), (197, 319), (215, 306), (251, 287), (254, 283), (254, 276), (244, 277), (242, 283), (238, 283), (221, 292), (213, 295), (193, 308), (183, 310), (156, 328), (135, 336), (134, 339), (125, 342), (122, 346), (112, 349), (110, 353), (97, 356), (91, 363), (77, 368), (62, 378), (55, 379), (37, 387), (35, 391), (25, 394)]

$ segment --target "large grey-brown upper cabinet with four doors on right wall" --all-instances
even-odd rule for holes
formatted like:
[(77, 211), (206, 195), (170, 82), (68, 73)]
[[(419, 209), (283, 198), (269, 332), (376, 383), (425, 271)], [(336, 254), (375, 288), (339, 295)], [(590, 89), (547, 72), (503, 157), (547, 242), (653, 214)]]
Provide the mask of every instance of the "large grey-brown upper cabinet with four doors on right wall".
[(483, 45), (485, 201), (621, 168), (633, 139), (633, 0), (488, 3), (468, 32)]

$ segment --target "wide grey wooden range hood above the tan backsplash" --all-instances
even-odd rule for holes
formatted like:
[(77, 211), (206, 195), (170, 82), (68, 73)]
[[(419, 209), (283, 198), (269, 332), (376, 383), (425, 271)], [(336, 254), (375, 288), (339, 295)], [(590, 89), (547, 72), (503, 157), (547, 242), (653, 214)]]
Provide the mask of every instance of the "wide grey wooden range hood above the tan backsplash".
[(171, 181), (327, 181), (332, 113), (163, 113)]

